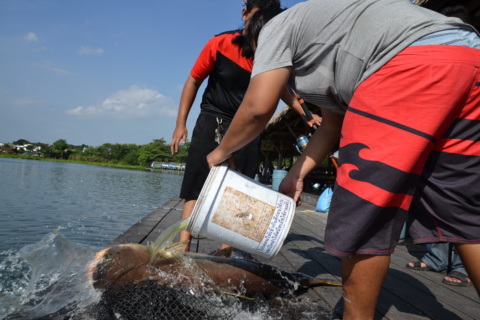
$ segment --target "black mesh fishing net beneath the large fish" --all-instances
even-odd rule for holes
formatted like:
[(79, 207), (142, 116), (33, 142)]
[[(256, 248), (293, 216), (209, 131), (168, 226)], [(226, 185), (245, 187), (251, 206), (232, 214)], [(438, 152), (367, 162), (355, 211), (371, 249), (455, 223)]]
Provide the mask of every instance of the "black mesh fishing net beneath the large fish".
[(153, 281), (115, 282), (104, 291), (97, 305), (99, 320), (107, 319), (239, 319), (245, 313), (256, 315), (268, 312), (265, 297), (241, 301), (225, 297), (221, 301), (189, 295)]

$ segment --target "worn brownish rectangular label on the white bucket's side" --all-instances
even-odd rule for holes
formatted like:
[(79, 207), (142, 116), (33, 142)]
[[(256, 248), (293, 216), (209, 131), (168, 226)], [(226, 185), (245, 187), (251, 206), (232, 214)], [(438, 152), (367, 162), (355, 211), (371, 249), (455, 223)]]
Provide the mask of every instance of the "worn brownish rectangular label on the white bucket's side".
[(260, 243), (274, 212), (274, 206), (226, 186), (211, 222)]

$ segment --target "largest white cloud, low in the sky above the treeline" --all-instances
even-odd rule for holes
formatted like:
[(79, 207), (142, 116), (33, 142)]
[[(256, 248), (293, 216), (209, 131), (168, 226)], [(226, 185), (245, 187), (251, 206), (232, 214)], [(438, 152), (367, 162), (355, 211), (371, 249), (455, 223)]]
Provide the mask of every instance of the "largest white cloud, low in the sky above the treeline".
[(176, 116), (177, 110), (170, 98), (156, 90), (131, 86), (106, 98), (99, 106), (78, 106), (66, 111), (81, 118), (113, 116), (117, 119), (139, 119), (151, 116)]

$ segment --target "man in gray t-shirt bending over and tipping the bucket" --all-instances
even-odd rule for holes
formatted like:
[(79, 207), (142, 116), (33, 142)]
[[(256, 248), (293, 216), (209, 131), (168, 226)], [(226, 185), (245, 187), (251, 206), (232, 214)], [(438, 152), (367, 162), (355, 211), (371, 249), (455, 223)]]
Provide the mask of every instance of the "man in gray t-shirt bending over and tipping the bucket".
[(455, 243), (479, 292), (478, 70), (479, 35), (459, 19), (407, 0), (300, 3), (262, 29), (208, 164), (235, 166), (232, 152), (261, 133), (288, 82), (323, 121), (278, 190), (300, 202), (304, 177), (341, 138), (324, 249), (342, 258), (344, 319), (374, 316), (407, 214), (415, 243)]

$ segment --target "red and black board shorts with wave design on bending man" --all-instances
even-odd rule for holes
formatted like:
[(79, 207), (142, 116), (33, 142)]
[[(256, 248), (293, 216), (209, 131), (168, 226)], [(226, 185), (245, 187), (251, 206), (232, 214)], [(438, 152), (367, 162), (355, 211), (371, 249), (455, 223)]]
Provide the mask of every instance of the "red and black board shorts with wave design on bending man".
[(359, 85), (341, 132), (331, 254), (480, 243), (480, 49), (407, 47)]

